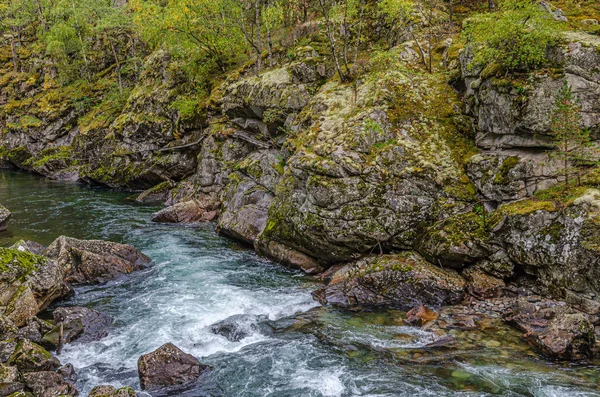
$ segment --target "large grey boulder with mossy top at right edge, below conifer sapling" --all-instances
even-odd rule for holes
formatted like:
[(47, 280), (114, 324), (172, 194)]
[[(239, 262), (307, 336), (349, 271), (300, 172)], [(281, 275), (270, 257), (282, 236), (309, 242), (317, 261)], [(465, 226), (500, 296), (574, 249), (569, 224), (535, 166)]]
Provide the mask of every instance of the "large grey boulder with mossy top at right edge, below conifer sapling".
[[(542, 295), (600, 302), (600, 192), (590, 189), (566, 207), (527, 199), (497, 210), (492, 241), (528, 276)], [(593, 302), (586, 306), (594, 308)], [(600, 307), (599, 307), (600, 308)], [(597, 314), (597, 313), (591, 313)]]

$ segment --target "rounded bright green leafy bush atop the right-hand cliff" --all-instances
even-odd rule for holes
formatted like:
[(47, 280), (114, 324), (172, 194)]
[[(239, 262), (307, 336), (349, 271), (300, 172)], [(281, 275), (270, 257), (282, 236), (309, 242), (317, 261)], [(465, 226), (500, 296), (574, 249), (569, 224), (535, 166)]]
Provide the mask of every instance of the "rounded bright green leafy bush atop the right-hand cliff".
[(504, 0), (498, 11), (475, 15), (464, 29), (474, 65), (493, 63), (505, 72), (543, 66), (546, 49), (558, 40), (559, 32), (558, 23), (530, 0)]

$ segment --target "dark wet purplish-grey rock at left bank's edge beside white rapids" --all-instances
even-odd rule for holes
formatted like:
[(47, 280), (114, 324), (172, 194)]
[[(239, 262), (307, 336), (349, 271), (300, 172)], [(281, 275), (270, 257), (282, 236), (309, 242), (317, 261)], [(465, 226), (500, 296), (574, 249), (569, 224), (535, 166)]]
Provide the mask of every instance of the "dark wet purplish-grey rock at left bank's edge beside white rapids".
[[(99, 340), (108, 334), (112, 319), (95, 310), (86, 307), (61, 307), (54, 310), (55, 326), (44, 335), (44, 345), (58, 349), (62, 344), (74, 340), (89, 342)], [(63, 328), (62, 341), (60, 328)]]

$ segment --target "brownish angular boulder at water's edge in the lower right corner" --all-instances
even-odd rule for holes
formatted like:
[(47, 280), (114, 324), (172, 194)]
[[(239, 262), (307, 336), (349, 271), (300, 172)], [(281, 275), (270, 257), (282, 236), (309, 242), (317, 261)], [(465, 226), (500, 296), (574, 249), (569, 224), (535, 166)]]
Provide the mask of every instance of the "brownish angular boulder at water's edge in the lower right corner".
[(593, 358), (595, 329), (589, 317), (556, 301), (517, 300), (504, 321), (525, 332), (541, 354), (554, 360)]

